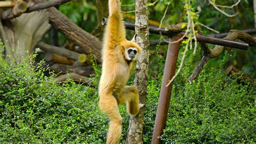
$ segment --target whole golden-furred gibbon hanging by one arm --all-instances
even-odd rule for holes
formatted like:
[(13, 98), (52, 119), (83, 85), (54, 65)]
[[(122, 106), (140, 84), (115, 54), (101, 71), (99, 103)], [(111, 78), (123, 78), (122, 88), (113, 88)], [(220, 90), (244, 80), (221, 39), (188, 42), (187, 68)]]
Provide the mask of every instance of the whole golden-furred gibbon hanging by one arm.
[(133, 62), (142, 48), (125, 38), (125, 28), (120, 0), (109, 0), (104, 45), (102, 76), (99, 82), (99, 107), (109, 117), (109, 132), (106, 143), (118, 143), (122, 134), (122, 117), (118, 105), (126, 103), (131, 116), (137, 115), (143, 104), (139, 104), (138, 88), (125, 86), (130, 78)]

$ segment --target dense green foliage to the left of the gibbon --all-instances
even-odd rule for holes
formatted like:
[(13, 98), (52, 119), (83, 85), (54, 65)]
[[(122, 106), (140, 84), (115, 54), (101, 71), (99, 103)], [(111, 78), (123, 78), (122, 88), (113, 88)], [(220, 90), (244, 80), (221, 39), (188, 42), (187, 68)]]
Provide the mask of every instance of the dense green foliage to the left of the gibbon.
[(108, 120), (97, 91), (59, 85), (45, 71), (0, 58), (0, 142), (103, 142)]

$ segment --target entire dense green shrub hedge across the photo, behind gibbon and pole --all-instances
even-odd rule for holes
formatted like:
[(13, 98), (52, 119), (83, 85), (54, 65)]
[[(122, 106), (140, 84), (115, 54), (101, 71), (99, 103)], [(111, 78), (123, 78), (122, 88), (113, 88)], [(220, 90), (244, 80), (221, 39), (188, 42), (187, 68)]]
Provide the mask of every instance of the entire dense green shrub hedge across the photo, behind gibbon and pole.
[[(153, 61), (158, 65), (150, 68), (145, 143), (151, 141), (163, 74), (164, 59)], [(0, 58), (0, 142), (103, 143), (108, 120), (97, 106), (100, 69), (95, 68), (94, 86), (78, 85), (72, 80), (60, 85), (54, 75), (44, 76), (47, 70), (42, 66), (14, 64)], [(255, 86), (238, 84), (220, 68), (206, 68), (193, 84), (188, 84), (192, 68), (191, 61), (186, 61), (174, 81), (161, 139), (166, 143), (255, 142)], [(124, 143), (129, 115), (125, 106), (119, 109), (123, 116), (120, 142)]]

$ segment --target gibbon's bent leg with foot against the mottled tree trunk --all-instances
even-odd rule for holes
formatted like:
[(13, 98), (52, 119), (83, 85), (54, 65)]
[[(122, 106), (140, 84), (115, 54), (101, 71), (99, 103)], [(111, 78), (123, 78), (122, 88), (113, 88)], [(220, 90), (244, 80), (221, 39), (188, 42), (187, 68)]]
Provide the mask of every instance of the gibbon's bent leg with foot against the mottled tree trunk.
[(139, 93), (136, 85), (125, 86), (120, 96), (117, 97), (118, 105), (126, 102), (127, 112), (131, 115), (137, 115), (140, 107), (144, 105), (139, 104)]

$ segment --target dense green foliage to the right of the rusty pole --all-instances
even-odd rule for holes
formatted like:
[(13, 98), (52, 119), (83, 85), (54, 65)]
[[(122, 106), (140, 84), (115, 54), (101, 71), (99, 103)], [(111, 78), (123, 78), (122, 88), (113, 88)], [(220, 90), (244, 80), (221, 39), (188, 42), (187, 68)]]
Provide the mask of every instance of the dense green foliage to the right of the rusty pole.
[[(181, 82), (184, 75), (176, 79), (163, 141), (255, 142), (254, 86), (225, 76), (221, 67), (226, 58), (218, 69), (203, 70), (192, 84)], [(191, 73), (190, 68), (183, 73)]]

